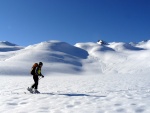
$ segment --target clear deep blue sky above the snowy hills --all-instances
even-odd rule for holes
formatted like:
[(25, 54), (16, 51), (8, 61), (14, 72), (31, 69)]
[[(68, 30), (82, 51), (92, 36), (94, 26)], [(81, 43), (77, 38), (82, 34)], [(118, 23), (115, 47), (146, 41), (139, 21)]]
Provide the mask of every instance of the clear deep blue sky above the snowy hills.
[(0, 0), (0, 40), (139, 42), (150, 38), (150, 0)]

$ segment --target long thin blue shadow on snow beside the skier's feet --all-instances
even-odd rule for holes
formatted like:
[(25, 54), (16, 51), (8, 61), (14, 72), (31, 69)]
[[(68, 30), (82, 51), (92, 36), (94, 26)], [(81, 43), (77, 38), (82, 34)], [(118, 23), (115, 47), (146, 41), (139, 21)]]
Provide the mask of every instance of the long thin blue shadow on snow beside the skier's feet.
[(61, 95), (61, 96), (68, 96), (68, 97), (106, 97), (106, 96), (99, 96), (99, 95), (89, 95), (89, 94), (82, 94), (82, 93), (40, 93), (45, 95)]

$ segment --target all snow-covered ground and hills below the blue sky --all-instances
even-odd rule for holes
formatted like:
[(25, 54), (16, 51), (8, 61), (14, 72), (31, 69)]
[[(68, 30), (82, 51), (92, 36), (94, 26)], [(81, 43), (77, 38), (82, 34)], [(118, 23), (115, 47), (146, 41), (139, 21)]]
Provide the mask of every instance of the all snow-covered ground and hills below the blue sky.
[[(44, 63), (41, 94), (26, 89)], [(0, 42), (0, 113), (150, 113), (150, 41)]]

